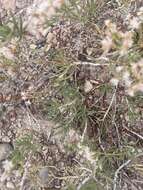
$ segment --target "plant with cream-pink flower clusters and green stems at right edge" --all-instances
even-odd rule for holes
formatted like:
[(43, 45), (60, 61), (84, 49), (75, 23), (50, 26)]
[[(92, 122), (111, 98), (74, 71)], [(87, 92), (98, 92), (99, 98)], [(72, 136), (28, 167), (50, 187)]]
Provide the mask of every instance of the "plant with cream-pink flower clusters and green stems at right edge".
[(102, 40), (103, 55), (109, 57), (114, 76), (111, 83), (123, 85), (130, 96), (143, 92), (143, 59), (139, 54), (143, 44), (143, 7), (136, 16), (128, 15), (126, 31), (115, 23), (105, 21), (106, 31)]

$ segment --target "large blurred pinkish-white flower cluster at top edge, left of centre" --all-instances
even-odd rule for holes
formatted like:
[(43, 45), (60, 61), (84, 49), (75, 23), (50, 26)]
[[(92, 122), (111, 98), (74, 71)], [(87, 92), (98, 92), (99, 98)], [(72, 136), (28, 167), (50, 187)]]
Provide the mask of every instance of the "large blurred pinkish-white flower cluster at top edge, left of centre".
[(27, 20), (24, 23), (28, 33), (40, 38), (47, 32), (46, 21), (56, 14), (64, 0), (35, 0), (27, 10)]

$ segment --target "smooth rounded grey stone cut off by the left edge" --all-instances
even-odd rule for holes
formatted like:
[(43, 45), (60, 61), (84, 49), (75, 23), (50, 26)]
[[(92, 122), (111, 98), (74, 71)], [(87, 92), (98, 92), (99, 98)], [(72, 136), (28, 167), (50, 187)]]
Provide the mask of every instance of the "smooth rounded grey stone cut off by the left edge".
[(13, 147), (10, 143), (0, 143), (0, 161), (6, 160), (12, 150)]

